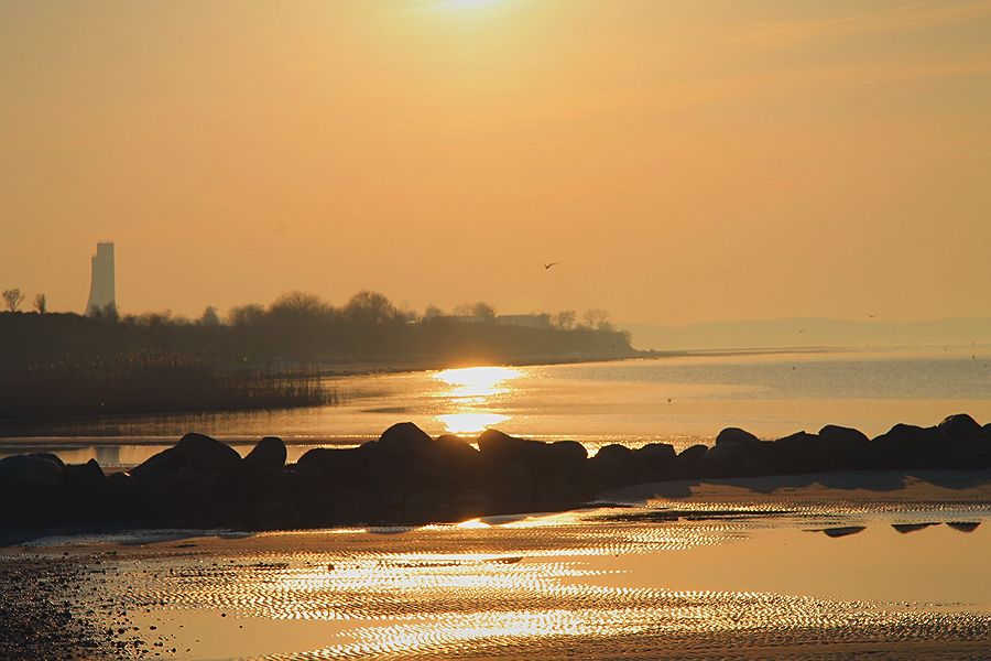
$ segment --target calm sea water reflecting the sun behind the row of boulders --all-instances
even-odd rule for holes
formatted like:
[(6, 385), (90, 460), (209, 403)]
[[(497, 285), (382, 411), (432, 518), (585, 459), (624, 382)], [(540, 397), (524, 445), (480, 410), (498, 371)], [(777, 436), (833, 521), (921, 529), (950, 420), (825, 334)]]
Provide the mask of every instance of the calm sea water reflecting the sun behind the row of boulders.
[(824, 424), (878, 434), (956, 412), (991, 422), (991, 347), (710, 354), (558, 366), (475, 368), (328, 379), (340, 403), (268, 412), (142, 415), (0, 426), (0, 454), (25, 444), (68, 460), (131, 465), (200, 431), (239, 444), (282, 436), (295, 458), (348, 445), (399, 421), (431, 434), (511, 434), (606, 443), (710, 442), (725, 426), (763, 437)]

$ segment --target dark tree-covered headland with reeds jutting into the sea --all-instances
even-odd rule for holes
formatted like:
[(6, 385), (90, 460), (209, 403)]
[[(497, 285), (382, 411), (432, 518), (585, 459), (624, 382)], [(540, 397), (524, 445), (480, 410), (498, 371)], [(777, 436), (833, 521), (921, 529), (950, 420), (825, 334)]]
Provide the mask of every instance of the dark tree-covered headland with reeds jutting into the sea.
[(318, 387), (329, 373), (635, 355), (602, 315), (596, 326), (525, 327), (471, 306), (480, 311), (416, 315), (360, 292), (339, 307), (290, 293), (196, 321), (0, 313), (0, 420), (314, 405), (333, 399)]

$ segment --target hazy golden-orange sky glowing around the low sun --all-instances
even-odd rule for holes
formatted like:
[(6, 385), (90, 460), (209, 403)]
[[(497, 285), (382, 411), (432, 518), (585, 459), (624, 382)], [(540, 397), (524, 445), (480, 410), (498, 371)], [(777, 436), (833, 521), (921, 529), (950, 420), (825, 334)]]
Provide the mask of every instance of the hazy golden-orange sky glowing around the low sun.
[(991, 1), (0, 0), (0, 226), (53, 310), (991, 316)]

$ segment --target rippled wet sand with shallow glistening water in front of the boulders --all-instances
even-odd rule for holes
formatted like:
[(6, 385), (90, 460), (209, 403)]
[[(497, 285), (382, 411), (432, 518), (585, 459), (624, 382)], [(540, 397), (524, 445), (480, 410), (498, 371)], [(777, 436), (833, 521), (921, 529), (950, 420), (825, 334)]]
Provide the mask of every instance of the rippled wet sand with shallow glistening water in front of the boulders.
[(664, 483), (599, 509), (409, 530), (50, 538), (4, 550), (0, 574), (72, 626), (8, 606), (8, 630), (39, 633), (0, 652), (983, 658), (985, 473)]

